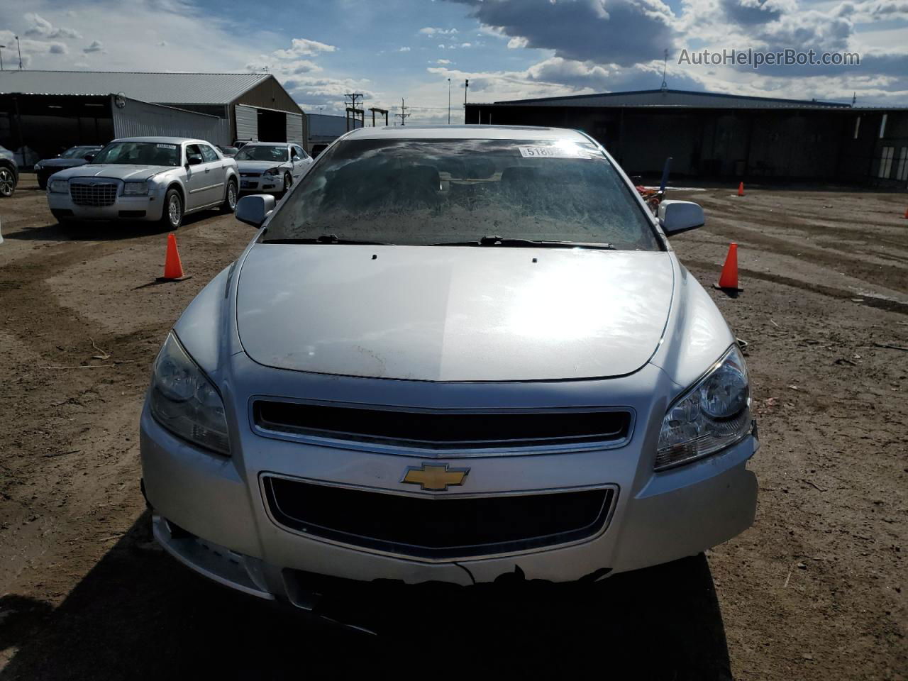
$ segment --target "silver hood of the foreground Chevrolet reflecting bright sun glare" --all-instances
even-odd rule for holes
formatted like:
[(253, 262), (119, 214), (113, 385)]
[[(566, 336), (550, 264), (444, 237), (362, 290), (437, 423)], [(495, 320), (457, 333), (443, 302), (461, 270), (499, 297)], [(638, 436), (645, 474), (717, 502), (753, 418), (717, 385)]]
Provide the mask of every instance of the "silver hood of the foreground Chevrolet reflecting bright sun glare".
[(279, 369), (565, 380), (640, 369), (672, 304), (668, 252), (255, 244), (242, 347)]

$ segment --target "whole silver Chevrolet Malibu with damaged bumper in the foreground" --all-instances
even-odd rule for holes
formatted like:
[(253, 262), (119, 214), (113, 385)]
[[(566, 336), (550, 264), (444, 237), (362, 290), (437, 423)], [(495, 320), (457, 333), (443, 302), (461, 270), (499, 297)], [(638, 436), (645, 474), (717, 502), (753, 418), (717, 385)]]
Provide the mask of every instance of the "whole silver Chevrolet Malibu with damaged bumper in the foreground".
[[(222, 585), (596, 580), (750, 527), (745, 360), (612, 158), (551, 128), (341, 137), (163, 343), (155, 538)], [(341, 581), (341, 583), (343, 583)]]

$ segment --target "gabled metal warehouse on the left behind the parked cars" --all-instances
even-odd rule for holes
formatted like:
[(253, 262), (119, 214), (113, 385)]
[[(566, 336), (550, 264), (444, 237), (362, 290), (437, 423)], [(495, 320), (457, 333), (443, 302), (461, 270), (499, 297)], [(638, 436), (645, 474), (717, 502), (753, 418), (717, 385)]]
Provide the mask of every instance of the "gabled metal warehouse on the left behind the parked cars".
[(24, 165), (127, 135), (305, 144), (307, 127), (271, 74), (0, 72), (0, 144)]

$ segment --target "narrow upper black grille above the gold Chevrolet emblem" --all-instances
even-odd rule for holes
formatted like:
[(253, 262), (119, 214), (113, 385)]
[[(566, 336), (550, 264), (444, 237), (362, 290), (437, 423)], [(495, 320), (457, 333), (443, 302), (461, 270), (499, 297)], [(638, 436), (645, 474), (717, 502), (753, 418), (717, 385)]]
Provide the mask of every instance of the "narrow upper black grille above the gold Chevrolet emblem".
[(586, 442), (630, 434), (623, 410), (426, 411), (256, 400), (260, 429), (419, 449), (495, 449)]

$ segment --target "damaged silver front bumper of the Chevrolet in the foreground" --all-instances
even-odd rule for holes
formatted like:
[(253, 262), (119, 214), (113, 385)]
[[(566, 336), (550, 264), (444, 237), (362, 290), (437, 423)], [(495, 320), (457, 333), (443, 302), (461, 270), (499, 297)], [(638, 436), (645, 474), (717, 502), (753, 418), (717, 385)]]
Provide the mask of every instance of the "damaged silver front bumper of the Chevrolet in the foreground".
[[(642, 435), (642, 434), (641, 434)], [(255, 436), (249, 436), (255, 438)], [(644, 438), (637, 438), (641, 442)], [(612, 515), (597, 535), (567, 545), (459, 560), (413, 558), (302, 536), (278, 526), (262, 498), (261, 473), (279, 469), (301, 479), (399, 479), (411, 458), (252, 439), (240, 443), (269, 453), (250, 469), (242, 457), (224, 458), (193, 447), (143, 411), (141, 451), (155, 537), (184, 564), (255, 596), (310, 607), (302, 575), (408, 584), (491, 582), (522, 572), (553, 582), (646, 568), (696, 555), (749, 528), (757, 484), (746, 462), (753, 437), (714, 457), (660, 473), (638, 475), (639, 451), (593, 450), (532, 457), (470, 459), (470, 476), (514, 480), (515, 489), (568, 489), (591, 480), (618, 489)], [(639, 444), (637, 446), (640, 446)], [(491, 494), (496, 483), (479, 493)], [(177, 538), (172, 528), (177, 528)]]

